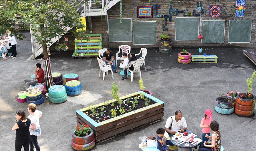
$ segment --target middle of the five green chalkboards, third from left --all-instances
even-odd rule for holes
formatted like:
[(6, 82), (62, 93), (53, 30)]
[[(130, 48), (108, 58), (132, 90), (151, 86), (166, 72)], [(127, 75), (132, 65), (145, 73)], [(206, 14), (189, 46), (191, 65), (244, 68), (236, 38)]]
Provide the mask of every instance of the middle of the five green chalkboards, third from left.
[(199, 17), (176, 17), (175, 40), (198, 40)]

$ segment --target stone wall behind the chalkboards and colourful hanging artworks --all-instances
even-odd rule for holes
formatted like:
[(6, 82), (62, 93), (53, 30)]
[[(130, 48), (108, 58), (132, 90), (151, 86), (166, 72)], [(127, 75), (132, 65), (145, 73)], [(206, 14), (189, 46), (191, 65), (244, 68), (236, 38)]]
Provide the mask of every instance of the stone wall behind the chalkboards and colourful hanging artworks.
[[(175, 18), (176, 17), (185, 17), (183, 14), (179, 13), (178, 16), (172, 16), (172, 22), (169, 22), (165, 28), (168, 28), (168, 31), (164, 31), (173, 39), (174, 47), (255, 47), (256, 44), (256, 27), (255, 27), (255, 18), (256, 18), (256, 1), (255, 0), (246, 0), (245, 1), (245, 13), (244, 17), (235, 17), (236, 13), (236, 0), (172, 0), (172, 8), (178, 9), (178, 11), (186, 10), (186, 12), (193, 12), (196, 9), (196, 3), (202, 3), (202, 9), (206, 9), (206, 13), (199, 16), (200, 17), (200, 25), (199, 25), (199, 33), (202, 30), (202, 20), (225, 20), (225, 41), (222, 44), (201, 44), (201, 40), (190, 40), (190, 41), (175, 41)], [(132, 21), (156, 21), (157, 28), (157, 44), (156, 45), (133, 45), (133, 42), (108, 42), (108, 33), (106, 32), (106, 24), (105, 17), (102, 16), (92, 16), (92, 33), (102, 33), (103, 37), (103, 47), (114, 47), (117, 48), (119, 45), (129, 45), (132, 48), (140, 48), (140, 47), (158, 47), (160, 35), (162, 34), (162, 18), (156, 18), (156, 11), (153, 10), (153, 18), (137, 18), (137, 6), (149, 6), (154, 4), (161, 5), (158, 9), (159, 15), (168, 15), (169, 14), (169, 0), (151, 0), (151, 3), (148, 0), (135, 0), (135, 16), (134, 16), (134, 4), (133, 0), (123, 0), (123, 18), (132, 18)], [(219, 18), (211, 18), (209, 17), (209, 5), (220, 5), (221, 6), (221, 17)], [(111, 9), (108, 10), (108, 19), (111, 18), (119, 18), (120, 17), (120, 6), (119, 2), (114, 5)], [(191, 16), (188, 16), (191, 17)], [(86, 18), (87, 19), (87, 18)], [(229, 20), (231, 19), (252, 19), (252, 35), (251, 35), (251, 43), (228, 43), (228, 25)], [(86, 20), (87, 21), (87, 20)], [(87, 32), (89, 33), (89, 25), (87, 25)], [(69, 49), (74, 50), (74, 38), (72, 36), (68, 36), (69, 39)], [(60, 42), (63, 41), (63, 38)], [(73, 47), (73, 48), (72, 48)]]

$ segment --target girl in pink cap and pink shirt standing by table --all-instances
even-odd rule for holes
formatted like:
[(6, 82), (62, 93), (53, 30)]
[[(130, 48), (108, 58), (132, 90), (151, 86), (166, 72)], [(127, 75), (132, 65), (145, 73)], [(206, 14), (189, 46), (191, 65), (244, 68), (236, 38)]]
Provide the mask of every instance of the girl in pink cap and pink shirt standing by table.
[(210, 128), (211, 122), (212, 122), (212, 111), (210, 109), (207, 109), (205, 111), (204, 118), (201, 120), (201, 124), (200, 124), (200, 127), (202, 127), (202, 139), (203, 139), (201, 144), (203, 144), (205, 141), (208, 141), (208, 138), (205, 137), (206, 134), (211, 136), (211, 128)]

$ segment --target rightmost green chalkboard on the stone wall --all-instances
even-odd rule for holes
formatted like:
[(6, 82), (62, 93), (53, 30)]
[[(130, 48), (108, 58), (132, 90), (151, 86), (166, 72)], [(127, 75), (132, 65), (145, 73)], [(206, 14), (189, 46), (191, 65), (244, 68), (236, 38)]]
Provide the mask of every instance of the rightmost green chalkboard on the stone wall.
[(252, 20), (229, 20), (228, 43), (250, 43)]

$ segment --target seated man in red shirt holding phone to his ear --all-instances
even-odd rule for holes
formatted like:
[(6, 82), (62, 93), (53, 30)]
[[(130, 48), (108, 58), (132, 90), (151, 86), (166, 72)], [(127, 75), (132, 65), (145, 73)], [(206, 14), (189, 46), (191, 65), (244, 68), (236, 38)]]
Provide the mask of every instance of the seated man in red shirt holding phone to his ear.
[(36, 63), (35, 79), (25, 79), (24, 82), (26, 83), (26, 88), (37, 83), (44, 83), (44, 70), (41, 68), (40, 63)]

